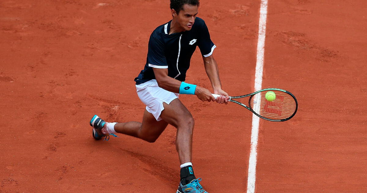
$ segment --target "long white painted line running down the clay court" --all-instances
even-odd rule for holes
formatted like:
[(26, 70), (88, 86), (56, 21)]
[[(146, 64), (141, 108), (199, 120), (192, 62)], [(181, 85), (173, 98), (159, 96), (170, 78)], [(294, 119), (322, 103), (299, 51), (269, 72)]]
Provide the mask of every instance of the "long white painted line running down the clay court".
[[(268, 12), (268, 0), (261, 0), (259, 37), (257, 42), (257, 55), (256, 55), (255, 91), (261, 90), (262, 85), (262, 70), (264, 67), (264, 47), (265, 47), (267, 12)], [(259, 122), (260, 118), (255, 114), (252, 114), (251, 147), (250, 147), (250, 158), (248, 160), (247, 193), (255, 193)]]

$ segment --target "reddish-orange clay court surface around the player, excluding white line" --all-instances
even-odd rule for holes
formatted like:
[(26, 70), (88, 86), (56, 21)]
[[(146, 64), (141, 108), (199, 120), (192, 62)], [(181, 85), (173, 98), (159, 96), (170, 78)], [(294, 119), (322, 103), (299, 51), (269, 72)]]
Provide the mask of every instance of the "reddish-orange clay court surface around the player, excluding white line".
[[(254, 92), (260, 0), (201, 0), (223, 89)], [(256, 193), (367, 192), (367, 1), (269, 0), (262, 87), (294, 118), (260, 121)], [(134, 78), (168, 0), (0, 2), (0, 193), (162, 192), (179, 181), (176, 129), (95, 141), (88, 121), (141, 121)], [(186, 80), (211, 88), (199, 49)], [(247, 191), (252, 114), (181, 95), (210, 193)]]

